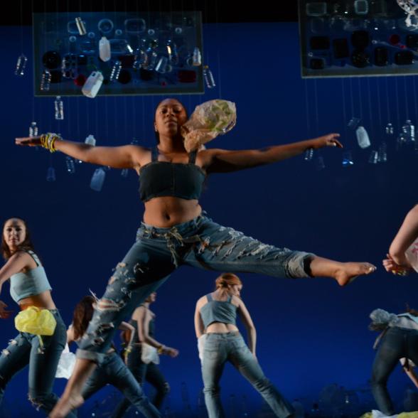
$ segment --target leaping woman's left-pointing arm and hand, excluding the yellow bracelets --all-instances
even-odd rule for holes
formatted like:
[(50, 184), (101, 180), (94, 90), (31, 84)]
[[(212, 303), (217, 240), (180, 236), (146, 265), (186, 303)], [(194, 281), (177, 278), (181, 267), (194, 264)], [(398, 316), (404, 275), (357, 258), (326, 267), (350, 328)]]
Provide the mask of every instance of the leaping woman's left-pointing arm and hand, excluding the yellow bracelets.
[[(41, 146), (41, 136), (16, 138), (16, 145)], [(64, 139), (57, 139), (54, 146), (58, 151), (75, 159), (113, 168), (139, 169), (141, 158), (147, 152), (144, 147), (137, 145), (92, 146)]]

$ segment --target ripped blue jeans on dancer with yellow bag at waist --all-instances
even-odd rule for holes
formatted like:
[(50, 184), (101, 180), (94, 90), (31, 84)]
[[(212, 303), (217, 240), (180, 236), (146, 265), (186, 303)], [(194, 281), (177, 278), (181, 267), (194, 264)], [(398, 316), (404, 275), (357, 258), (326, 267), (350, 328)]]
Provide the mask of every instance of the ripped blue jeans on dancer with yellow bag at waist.
[[(67, 341), (67, 330), (58, 310), (51, 309), (50, 312), (57, 326), (52, 336), (42, 336), (43, 347), (38, 336), (19, 333), (1, 352), (0, 402), (7, 383), (26, 365), (29, 365), (29, 400), (33, 406), (48, 414), (58, 402), (57, 395), (53, 393), (53, 383), (58, 360)], [(70, 412), (67, 417), (75, 417), (75, 414)]]

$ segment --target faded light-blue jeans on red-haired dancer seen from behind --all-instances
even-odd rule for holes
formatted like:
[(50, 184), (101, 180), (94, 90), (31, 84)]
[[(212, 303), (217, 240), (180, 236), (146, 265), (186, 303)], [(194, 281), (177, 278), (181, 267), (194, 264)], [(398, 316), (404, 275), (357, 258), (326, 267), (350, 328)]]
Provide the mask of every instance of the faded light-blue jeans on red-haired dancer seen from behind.
[(276, 417), (289, 417), (294, 408), (264, 376), (244, 339), (238, 332), (208, 333), (203, 350), (202, 376), (205, 404), (209, 418), (223, 418), (225, 412), (220, 402), (219, 381), (225, 363), (232, 365), (252, 384), (272, 408)]

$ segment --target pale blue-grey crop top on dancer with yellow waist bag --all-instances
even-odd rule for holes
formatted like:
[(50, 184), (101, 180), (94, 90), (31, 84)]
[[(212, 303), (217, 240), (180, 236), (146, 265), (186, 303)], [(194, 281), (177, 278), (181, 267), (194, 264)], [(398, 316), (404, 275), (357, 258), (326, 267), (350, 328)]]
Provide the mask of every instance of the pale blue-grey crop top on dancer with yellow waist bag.
[(30, 250), (27, 253), (35, 260), (37, 267), (26, 273), (16, 273), (10, 277), (10, 295), (16, 303), (28, 296), (52, 290), (38, 256)]

